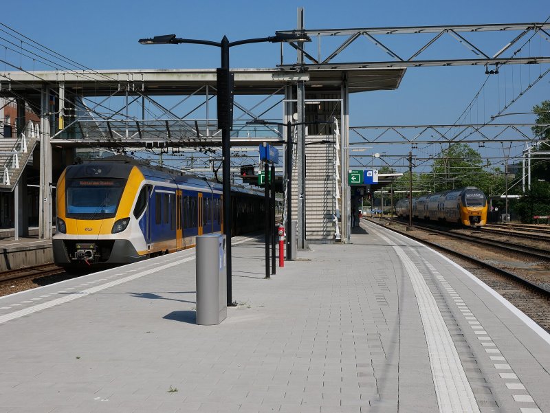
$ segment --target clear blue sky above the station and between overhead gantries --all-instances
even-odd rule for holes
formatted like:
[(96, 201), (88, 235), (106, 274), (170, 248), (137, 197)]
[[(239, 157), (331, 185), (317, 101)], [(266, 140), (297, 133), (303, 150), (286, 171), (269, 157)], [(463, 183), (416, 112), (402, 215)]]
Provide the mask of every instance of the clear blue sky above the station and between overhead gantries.
[[(219, 41), (270, 36), (275, 30), (296, 27), (296, 9), (305, 8), (305, 26), (313, 28), (381, 27), (415, 25), (459, 25), (527, 23), (545, 21), (550, 2), (534, 1), (38, 1), (5, 2), (1, 21), (56, 52), (93, 69), (213, 68), (219, 65), (219, 49), (200, 45), (145, 47), (137, 39), (157, 34)], [(503, 45), (505, 37), (496, 44)], [(506, 38), (507, 39), (507, 38)], [(343, 38), (340, 39), (342, 41)], [(396, 37), (397, 50), (410, 48), (421, 38)], [(476, 43), (477, 44), (477, 43)], [(496, 52), (487, 38), (487, 52)], [(549, 44), (548, 42), (546, 43)], [(370, 47), (368, 43), (358, 43)], [(441, 47), (455, 47), (443, 43)], [(547, 47), (548, 50), (548, 47)], [(438, 50), (432, 52), (437, 55)], [(236, 47), (232, 67), (274, 67), (278, 45)], [(287, 52), (288, 53), (288, 52)], [(379, 52), (375, 52), (379, 53)], [(0, 54), (3, 54), (0, 50)], [(542, 67), (542, 71), (549, 65)], [(29, 66), (27, 66), (29, 68)], [(519, 67), (509, 69), (507, 78), (491, 79), (483, 100), (472, 111), (472, 122), (483, 122), (496, 113), (503, 96), (518, 93), (511, 76), (527, 76)], [(515, 71), (514, 71), (515, 70)], [(538, 73), (540, 67), (530, 68)], [(534, 75), (533, 75), (534, 76)], [(408, 69), (397, 91), (362, 93), (351, 98), (352, 126), (388, 124), (448, 124), (459, 118), (485, 81), (483, 67), (437, 67)], [(525, 93), (510, 112), (531, 111), (533, 104), (550, 98), (550, 75)], [(506, 85), (508, 84), (508, 85)], [(481, 108), (483, 107), (483, 111)], [(514, 118), (530, 121), (534, 118)], [(408, 147), (381, 148), (387, 153), (406, 153)], [(516, 153), (521, 148), (514, 148)], [(497, 149), (484, 149), (498, 153)], [(426, 149), (426, 153), (434, 151)], [(502, 154), (502, 150), (500, 150)], [(421, 153), (419, 153), (421, 155)]]

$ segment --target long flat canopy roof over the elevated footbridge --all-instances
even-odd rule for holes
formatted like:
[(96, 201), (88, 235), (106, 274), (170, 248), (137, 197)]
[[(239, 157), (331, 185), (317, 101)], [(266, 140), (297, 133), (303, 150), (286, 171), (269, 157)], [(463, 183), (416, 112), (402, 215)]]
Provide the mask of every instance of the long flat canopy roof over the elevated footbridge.
[[(306, 91), (340, 93), (342, 80), (347, 80), (350, 93), (396, 89), (406, 69), (231, 69), (235, 74), (235, 94), (270, 95), (284, 93), (281, 86), (296, 80), (305, 80)], [(25, 92), (39, 93), (41, 84), (56, 87), (60, 82), (80, 96), (110, 96), (126, 85), (131, 91), (144, 91), (148, 95), (206, 94), (203, 85), (216, 86), (216, 69), (119, 69), (87, 71), (5, 71), (0, 72), (0, 96), (15, 96)], [(121, 87), (122, 86), (122, 87)], [(210, 94), (212, 93), (210, 89)], [(116, 95), (116, 93), (115, 93)]]

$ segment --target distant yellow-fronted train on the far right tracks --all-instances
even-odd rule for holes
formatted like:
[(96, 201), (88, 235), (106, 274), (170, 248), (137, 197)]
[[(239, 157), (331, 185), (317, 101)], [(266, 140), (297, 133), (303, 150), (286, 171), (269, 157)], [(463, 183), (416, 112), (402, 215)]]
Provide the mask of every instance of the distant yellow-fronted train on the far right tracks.
[[(397, 201), (395, 213), (408, 219), (408, 199)], [(483, 226), (487, 223), (487, 198), (474, 186), (415, 197), (412, 198), (412, 218)]]

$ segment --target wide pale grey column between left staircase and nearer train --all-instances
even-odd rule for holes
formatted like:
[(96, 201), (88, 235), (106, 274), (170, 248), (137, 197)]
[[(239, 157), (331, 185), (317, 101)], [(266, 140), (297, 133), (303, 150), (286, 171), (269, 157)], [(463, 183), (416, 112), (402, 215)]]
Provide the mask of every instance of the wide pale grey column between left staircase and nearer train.
[(52, 145), (50, 144), (50, 89), (42, 87), (40, 111), (39, 238), (52, 239)]

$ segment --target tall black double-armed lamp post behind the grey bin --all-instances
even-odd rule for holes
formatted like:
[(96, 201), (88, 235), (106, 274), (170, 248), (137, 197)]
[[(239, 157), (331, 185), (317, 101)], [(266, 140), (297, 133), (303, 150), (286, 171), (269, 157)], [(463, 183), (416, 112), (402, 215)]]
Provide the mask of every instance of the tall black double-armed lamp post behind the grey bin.
[(221, 49), (221, 67), (216, 71), (218, 93), (218, 127), (221, 129), (221, 154), (223, 157), (223, 233), (225, 234), (225, 253), (227, 268), (227, 304), (234, 306), (232, 300), (232, 265), (231, 265), (231, 155), (230, 155), (230, 131), (233, 124), (233, 76), (229, 70), (229, 49), (233, 46), (247, 45), (250, 43), (282, 43), (282, 42), (309, 42), (311, 38), (303, 31), (292, 33), (275, 32), (275, 36), (249, 38), (241, 41), (230, 42), (227, 36), (223, 36), (221, 42), (197, 40), (194, 38), (179, 38), (175, 34), (155, 36), (153, 38), (141, 38), (142, 45), (177, 45), (188, 43), (195, 45), (215, 46)]

